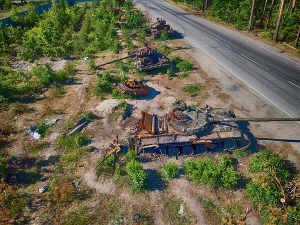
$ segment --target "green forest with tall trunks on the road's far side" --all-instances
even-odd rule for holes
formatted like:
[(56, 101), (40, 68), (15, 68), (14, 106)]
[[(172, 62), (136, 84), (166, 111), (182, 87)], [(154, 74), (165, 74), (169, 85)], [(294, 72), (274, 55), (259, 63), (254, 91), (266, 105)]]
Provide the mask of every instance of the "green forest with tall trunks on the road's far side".
[(274, 42), (285, 41), (298, 47), (299, 0), (186, 0), (186, 4), (221, 21), (232, 23), (238, 30), (254, 29)]

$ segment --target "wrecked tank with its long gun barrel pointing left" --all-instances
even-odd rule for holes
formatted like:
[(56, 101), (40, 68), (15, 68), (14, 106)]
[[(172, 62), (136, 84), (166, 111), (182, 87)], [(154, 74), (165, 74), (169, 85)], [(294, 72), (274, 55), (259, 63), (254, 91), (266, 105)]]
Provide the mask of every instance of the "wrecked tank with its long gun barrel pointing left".
[(129, 57), (139, 71), (148, 71), (155, 68), (167, 67), (170, 65), (170, 60), (166, 57), (165, 54), (158, 52), (154, 47), (145, 46), (128, 52), (128, 56), (105, 62), (101, 65), (98, 65), (97, 67), (120, 61)]

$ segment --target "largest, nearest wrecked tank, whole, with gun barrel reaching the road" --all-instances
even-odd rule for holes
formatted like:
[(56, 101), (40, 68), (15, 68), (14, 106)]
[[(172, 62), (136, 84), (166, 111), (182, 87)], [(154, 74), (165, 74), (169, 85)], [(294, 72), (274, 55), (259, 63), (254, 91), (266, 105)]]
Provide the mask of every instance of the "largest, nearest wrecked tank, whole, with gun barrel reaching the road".
[[(192, 108), (183, 104), (168, 114), (141, 111), (127, 143), (136, 151), (191, 155), (207, 151), (240, 150), (250, 144), (237, 121), (290, 121), (300, 118), (236, 118), (225, 108)], [(132, 130), (132, 129), (131, 129)]]

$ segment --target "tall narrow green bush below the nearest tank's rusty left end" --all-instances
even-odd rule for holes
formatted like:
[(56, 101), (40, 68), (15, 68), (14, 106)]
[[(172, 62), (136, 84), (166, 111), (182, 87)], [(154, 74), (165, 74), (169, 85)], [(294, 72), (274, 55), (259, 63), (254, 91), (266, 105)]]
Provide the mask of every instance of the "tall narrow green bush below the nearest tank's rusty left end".
[(137, 160), (129, 160), (126, 164), (126, 173), (135, 191), (140, 191), (145, 186), (147, 173), (143, 170), (141, 163)]

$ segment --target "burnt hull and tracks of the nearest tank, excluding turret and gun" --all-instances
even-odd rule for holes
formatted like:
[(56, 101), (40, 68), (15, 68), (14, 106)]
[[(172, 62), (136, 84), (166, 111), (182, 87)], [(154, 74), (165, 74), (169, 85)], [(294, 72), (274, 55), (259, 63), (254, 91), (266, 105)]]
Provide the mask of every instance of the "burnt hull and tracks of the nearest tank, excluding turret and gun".
[[(199, 110), (199, 112), (187, 112), (187, 115), (194, 118), (193, 122), (195, 121), (195, 124), (201, 123), (196, 117), (202, 115), (205, 109), (202, 109), (203, 111)], [(234, 114), (222, 108), (210, 109), (209, 113), (215, 116), (234, 117)], [(202, 131), (196, 130), (194, 134), (187, 134), (177, 131), (181, 127), (180, 124), (178, 125), (178, 121), (172, 121), (172, 115), (172, 112), (156, 115), (142, 111), (138, 122), (137, 135), (133, 143), (135, 149), (174, 156), (205, 153), (207, 151), (239, 150), (250, 144), (247, 135), (240, 130), (234, 121), (203, 123), (198, 127), (192, 127), (193, 122), (185, 120), (183, 123), (189, 123), (192, 128), (202, 129)]]

